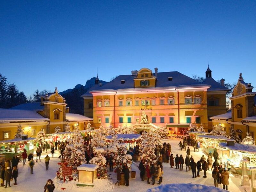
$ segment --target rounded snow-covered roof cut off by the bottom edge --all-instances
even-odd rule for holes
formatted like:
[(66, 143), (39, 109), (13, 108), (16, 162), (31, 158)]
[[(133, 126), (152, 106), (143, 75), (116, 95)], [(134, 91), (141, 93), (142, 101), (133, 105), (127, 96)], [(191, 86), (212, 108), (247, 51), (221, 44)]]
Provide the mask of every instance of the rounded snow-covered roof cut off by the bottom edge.
[(177, 192), (177, 191), (190, 191), (190, 192), (224, 192), (226, 190), (221, 188), (216, 188), (213, 186), (199, 185), (193, 183), (173, 183), (160, 185), (158, 187), (154, 187), (148, 189), (146, 192)]

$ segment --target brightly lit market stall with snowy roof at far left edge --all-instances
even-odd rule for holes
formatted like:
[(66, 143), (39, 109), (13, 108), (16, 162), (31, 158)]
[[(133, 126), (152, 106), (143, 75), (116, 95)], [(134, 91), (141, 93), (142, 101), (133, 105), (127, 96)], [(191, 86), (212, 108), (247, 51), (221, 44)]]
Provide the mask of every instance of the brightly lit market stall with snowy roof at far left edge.
[(0, 141), (0, 154), (11, 160), (14, 156), (20, 156), (24, 149), (27, 150), (27, 155), (34, 153), (34, 140), (35, 138), (30, 137)]

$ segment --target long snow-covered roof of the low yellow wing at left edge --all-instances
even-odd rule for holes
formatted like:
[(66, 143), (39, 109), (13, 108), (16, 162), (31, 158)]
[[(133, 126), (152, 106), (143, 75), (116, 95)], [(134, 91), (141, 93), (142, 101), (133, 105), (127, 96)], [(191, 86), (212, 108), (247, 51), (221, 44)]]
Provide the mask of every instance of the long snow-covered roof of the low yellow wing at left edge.
[(35, 111), (0, 108), (0, 122), (50, 121)]

